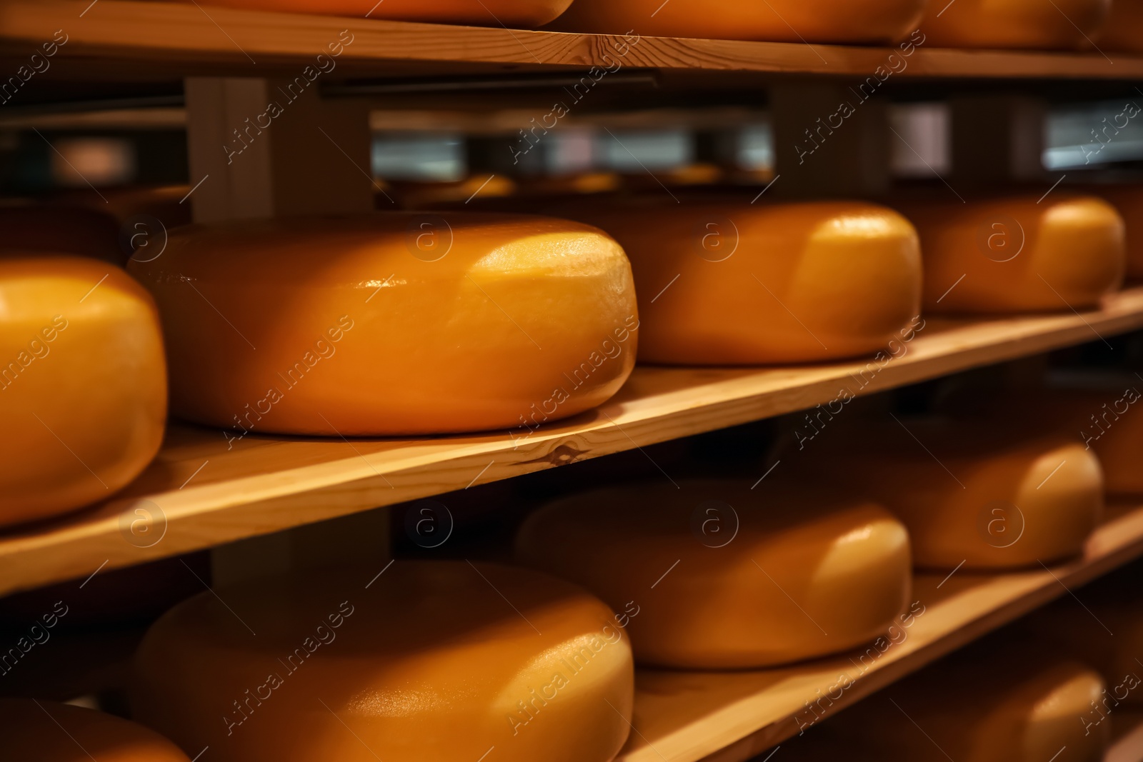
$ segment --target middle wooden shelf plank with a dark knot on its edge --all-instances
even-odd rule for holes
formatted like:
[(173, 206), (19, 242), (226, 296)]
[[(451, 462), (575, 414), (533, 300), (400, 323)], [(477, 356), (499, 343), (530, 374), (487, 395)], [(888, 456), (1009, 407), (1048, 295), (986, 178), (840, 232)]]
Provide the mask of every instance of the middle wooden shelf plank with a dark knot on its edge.
[(869, 394), (1140, 327), (1143, 287), (1135, 287), (1082, 314), (928, 319), (908, 351), (884, 367), (870, 359), (765, 369), (638, 367), (601, 408), (530, 433), (251, 434), (227, 444), (218, 430), (174, 425), (154, 463), (113, 499), (0, 534), (0, 594), (86, 577), (104, 563), (131, 566), (810, 408), (841, 388)]

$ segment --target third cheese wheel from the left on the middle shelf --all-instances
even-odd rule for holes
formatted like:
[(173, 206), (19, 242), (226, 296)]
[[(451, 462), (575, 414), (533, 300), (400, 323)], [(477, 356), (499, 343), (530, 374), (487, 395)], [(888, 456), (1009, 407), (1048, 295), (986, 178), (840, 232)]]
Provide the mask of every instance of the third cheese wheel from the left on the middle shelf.
[(829, 360), (884, 347), (919, 310), (917, 233), (860, 202), (585, 200), (561, 216), (631, 258), (639, 359), (679, 364)]

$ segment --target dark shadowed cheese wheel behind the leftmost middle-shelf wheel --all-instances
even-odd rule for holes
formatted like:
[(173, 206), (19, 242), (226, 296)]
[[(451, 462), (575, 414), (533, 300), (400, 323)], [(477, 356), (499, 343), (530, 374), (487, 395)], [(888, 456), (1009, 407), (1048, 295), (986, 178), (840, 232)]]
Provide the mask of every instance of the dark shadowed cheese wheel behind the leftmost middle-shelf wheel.
[(78, 206), (0, 208), (0, 257), (65, 254), (121, 265), (119, 223), (109, 214)]

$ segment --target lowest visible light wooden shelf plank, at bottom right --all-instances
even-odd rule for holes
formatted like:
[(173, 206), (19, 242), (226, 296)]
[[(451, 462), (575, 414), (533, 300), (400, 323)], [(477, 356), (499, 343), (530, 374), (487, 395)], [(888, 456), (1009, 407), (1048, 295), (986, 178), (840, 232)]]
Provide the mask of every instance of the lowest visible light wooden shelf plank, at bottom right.
[[(1066, 588), (1074, 589), (1140, 555), (1143, 507), (1117, 506), (1088, 539), (1081, 559), (1050, 571), (958, 571), (948, 578), (918, 575), (913, 600), (920, 601), (925, 611), (913, 619), (897, 645), (890, 645), (876, 659), (866, 657), (864, 663), (857, 663), (863, 653), (858, 650), (756, 672), (637, 671), (638, 732), (632, 733), (616, 762), (744, 762), (797, 736), (801, 723), (814, 717), (806, 701), (816, 701), (818, 690), (837, 696), (840, 675), (848, 675), (853, 684), (825, 709), (826, 716), (1049, 600), (1068, 595)], [(822, 706), (826, 706), (824, 701)], [(1119, 745), (1127, 749), (1135, 744), (1132, 748), (1137, 751), (1140, 740), (1128, 736)], [(796, 741), (791, 741), (791, 748), (796, 748)], [(1125, 752), (1113, 759), (1140, 762), (1143, 756), (1132, 757)]]

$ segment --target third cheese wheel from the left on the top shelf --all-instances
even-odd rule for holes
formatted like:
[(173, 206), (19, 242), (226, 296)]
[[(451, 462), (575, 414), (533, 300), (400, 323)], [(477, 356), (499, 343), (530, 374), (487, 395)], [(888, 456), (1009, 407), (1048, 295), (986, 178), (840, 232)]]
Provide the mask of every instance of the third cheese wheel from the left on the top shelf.
[(1087, 48), (1112, 5), (1112, 0), (930, 2), (921, 30), (927, 45), (943, 48)]

